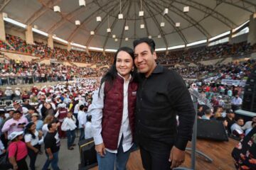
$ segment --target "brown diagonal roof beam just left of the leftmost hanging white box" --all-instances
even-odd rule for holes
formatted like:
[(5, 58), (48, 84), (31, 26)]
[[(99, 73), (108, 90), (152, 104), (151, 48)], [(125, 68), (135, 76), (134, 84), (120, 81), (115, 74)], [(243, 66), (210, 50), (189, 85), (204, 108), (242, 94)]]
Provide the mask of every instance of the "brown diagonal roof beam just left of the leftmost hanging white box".
[(28, 18), (26, 21), (26, 25), (31, 25), (33, 22), (35, 22), (40, 16), (43, 15), (43, 13), (46, 13), (49, 8), (52, 8), (55, 6), (55, 4), (58, 4), (61, 0), (55, 0), (55, 1), (48, 1), (46, 4), (44, 4), (43, 0), (38, 0), (39, 3), (42, 4), (42, 7), (38, 9), (35, 13), (31, 15), (31, 18)]

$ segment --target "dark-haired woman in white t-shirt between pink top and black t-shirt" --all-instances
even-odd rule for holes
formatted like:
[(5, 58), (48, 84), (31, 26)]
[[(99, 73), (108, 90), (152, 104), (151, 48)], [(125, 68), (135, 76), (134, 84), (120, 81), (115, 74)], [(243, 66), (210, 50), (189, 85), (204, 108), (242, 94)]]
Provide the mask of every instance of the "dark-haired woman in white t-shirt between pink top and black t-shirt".
[(25, 129), (25, 142), (28, 147), (28, 157), (30, 158), (29, 167), (31, 170), (35, 170), (36, 157), (39, 152), (39, 140), (41, 140), (43, 133), (36, 130), (36, 124), (31, 122), (26, 125)]

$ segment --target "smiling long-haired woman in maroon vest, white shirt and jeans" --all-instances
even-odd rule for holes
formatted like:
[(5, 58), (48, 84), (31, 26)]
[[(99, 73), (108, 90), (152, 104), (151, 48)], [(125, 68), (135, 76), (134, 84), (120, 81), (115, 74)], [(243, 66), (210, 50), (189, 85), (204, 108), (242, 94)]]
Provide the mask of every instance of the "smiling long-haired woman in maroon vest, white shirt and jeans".
[(134, 136), (135, 81), (134, 52), (121, 47), (114, 64), (95, 91), (89, 114), (99, 169), (126, 169)]

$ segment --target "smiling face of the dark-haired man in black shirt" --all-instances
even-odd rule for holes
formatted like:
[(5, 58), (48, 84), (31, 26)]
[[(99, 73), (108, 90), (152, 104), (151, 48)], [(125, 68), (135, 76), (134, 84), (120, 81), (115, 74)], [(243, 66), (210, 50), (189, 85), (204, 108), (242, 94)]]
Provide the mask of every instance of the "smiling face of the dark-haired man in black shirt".
[(156, 52), (152, 54), (149, 45), (146, 42), (142, 42), (134, 48), (134, 57), (134, 63), (139, 72), (149, 77), (156, 67)]

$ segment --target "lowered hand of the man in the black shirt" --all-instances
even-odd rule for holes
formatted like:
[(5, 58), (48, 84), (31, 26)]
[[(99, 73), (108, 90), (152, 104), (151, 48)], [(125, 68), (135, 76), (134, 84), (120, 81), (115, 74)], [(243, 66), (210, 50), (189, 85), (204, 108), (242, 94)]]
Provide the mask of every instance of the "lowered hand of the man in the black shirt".
[(171, 169), (180, 166), (185, 160), (185, 151), (176, 147), (172, 147), (169, 162), (171, 162)]

